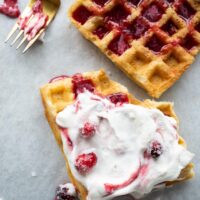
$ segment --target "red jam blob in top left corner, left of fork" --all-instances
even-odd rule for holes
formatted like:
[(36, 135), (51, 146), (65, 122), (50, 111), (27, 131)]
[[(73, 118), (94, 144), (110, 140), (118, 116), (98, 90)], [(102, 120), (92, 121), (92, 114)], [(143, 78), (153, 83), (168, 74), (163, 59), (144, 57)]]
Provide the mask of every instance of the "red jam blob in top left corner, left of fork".
[(18, 7), (18, 0), (4, 0), (4, 3), (0, 5), (0, 13), (12, 18), (17, 18), (20, 15)]

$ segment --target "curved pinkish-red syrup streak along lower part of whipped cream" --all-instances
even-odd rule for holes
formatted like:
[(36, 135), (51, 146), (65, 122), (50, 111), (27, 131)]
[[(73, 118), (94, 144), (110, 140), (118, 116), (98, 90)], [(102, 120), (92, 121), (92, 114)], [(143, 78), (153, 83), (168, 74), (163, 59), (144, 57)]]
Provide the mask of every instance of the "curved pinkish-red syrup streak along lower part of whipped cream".
[(108, 195), (110, 195), (115, 190), (119, 190), (119, 189), (122, 189), (122, 188), (130, 185), (132, 182), (134, 182), (139, 177), (139, 175), (144, 176), (146, 174), (147, 170), (148, 170), (148, 165), (142, 165), (137, 169), (136, 172), (134, 172), (130, 176), (130, 178), (128, 180), (124, 181), (123, 183), (121, 183), (121, 184), (109, 184), (109, 183), (104, 184), (106, 192), (108, 193)]

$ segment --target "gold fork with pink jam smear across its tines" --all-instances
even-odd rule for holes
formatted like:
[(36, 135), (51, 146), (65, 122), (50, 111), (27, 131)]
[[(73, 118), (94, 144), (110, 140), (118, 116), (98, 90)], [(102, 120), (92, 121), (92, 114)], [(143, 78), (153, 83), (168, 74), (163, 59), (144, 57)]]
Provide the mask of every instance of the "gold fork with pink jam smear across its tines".
[(9, 32), (5, 42), (14, 34), (17, 34), (11, 42), (12, 46), (23, 36), (16, 49), (20, 48), (27, 41), (28, 44), (23, 50), (23, 53), (25, 53), (44, 34), (45, 29), (55, 17), (59, 7), (60, 0), (30, 0)]

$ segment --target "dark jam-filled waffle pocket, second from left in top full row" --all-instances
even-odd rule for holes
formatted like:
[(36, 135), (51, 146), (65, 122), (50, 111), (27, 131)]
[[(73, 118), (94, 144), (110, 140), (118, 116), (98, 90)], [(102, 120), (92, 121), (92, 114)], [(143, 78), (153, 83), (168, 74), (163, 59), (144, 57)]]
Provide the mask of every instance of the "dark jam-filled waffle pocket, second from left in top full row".
[(116, 24), (121, 24), (130, 13), (125, 10), (122, 5), (115, 6), (111, 11), (109, 11), (105, 16), (105, 22), (114, 22)]

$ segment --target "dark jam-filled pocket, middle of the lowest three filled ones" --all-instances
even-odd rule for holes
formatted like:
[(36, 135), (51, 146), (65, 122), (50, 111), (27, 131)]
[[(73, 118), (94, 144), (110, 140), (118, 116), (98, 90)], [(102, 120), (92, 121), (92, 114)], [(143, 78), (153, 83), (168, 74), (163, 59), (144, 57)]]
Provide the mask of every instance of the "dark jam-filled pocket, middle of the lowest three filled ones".
[(164, 42), (160, 40), (156, 35), (153, 35), (146, 44), (146, 47), (155, 53), (159, 53), (163, 46)]

